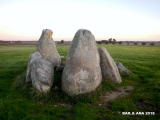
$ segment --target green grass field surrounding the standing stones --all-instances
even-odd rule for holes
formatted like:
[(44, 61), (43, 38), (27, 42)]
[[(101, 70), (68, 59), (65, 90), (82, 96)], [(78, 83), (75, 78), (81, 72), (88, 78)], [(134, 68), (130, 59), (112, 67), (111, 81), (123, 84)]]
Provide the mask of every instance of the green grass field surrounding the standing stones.
[[(160, 47), (98, 45), (107, 48), (116, 62), (122, 62), (131, 77), (122, 76), (118, 85), (104, 81), (97, 91), (69, 97), (60, 88), (61, 72), (55, 73), (53, 89), (37, 94), (25, 84), (29, 54), (35, 46), (0, 46), (0, 120), (158, 120), (160, 119)], [(58, 46), (61, 56), (69, 46)], [(63, 59), (65, 60), (65, 58)], [(120, 86), (134, 86), (132, 94), (95, 105), (100, 95)], [(122, 112), (155, 112), (155, 115), (122, 115)]]

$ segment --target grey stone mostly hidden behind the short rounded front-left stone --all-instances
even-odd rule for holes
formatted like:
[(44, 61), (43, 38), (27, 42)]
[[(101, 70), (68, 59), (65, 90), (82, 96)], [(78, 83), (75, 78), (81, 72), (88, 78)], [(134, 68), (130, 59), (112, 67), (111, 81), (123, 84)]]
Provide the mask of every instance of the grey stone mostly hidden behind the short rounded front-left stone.
[(31, 67), (35, 60), (42, 58), (41, 54), (39, 52), (35, 52), (33, 54), (30, 54), (29, 60), (28, 60), (28, 66), (27, 66), (27, 74), (26, 74), (26, 82), (31, 81)]

